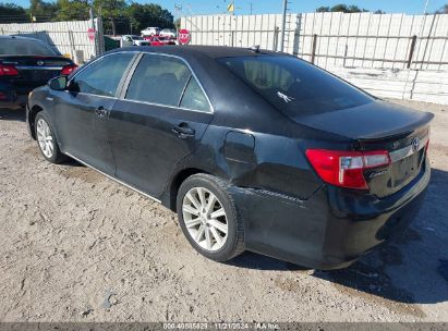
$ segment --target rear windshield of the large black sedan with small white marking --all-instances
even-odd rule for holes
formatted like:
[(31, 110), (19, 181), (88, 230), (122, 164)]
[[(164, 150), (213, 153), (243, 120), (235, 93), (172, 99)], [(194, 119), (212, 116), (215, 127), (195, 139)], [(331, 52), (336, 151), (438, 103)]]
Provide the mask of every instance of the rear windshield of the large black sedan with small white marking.
[(292, 118), (358, 107), (373, 100), (362, 90), (293, 57), (254, 56), (218, 61)]

